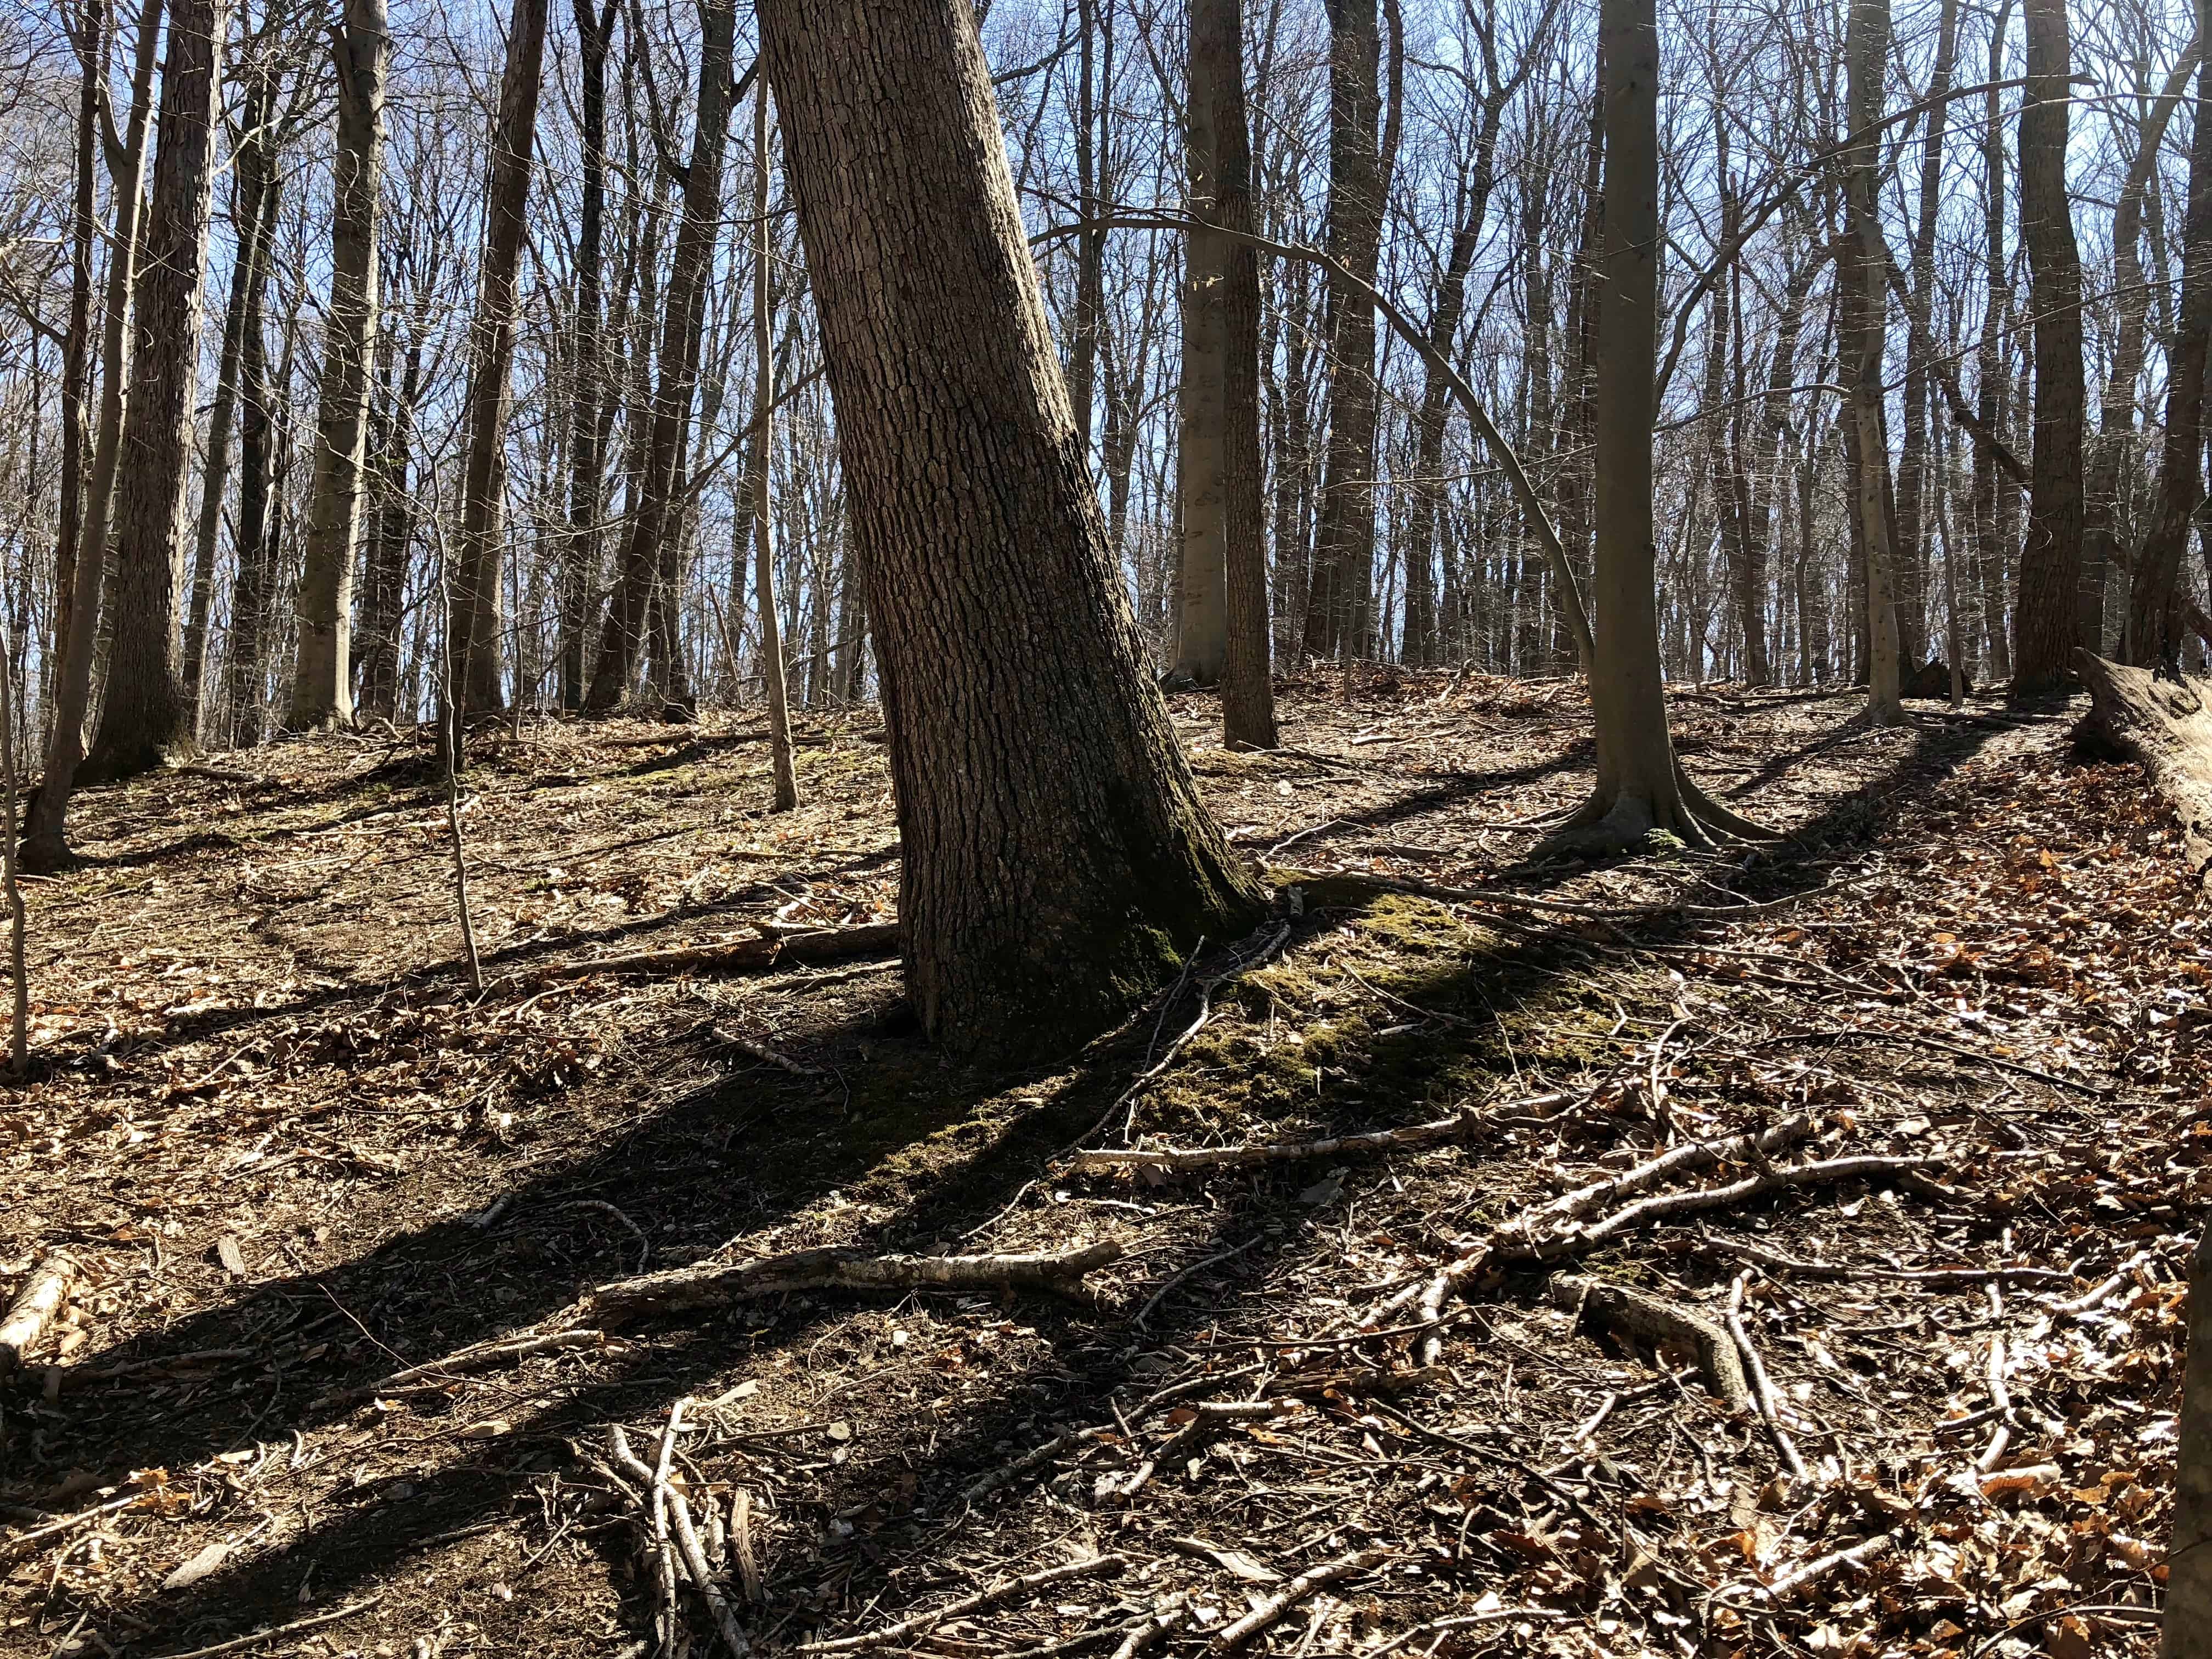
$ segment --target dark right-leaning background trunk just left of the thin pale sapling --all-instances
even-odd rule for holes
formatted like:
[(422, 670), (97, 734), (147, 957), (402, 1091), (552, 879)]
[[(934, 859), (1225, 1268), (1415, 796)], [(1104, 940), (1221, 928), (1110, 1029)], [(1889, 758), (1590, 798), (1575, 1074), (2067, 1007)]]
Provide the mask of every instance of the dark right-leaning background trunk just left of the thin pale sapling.
[[(734, 55), (737, 9), (730, 0), (712, 0), (701, 9), (699, 106), (692, 124), (692, 155), (684, 170), (684, 210), (677, 221), (675, 259), (668, 270), (668, 299), (661, 312), (659, 385), (653, 394), (653, 434), (646, 440), (646, 473), (639, 480), (637, 511), (622, 549), (622, 580), (599, 633), (599, 666), (591, 677), (584, 710), (606, 714), (622, 703), (637, 672), (644, 644), (646, 606), (653, 599), (670, 542), (677, 531), (677, 458), (690, 431), (692, 400), (699, 394), (699, 338), (706, 323), (706, 285), (714, 263), (714, 239), (721, 230), (721, 161), (730, 135), (730, 62)], [(666, 584), (661, 584), (666, 588)], [(661, 595), (661, 615), (675, 635), (675, 595)], [(661, 653), (666, 657), (666, 653)]]

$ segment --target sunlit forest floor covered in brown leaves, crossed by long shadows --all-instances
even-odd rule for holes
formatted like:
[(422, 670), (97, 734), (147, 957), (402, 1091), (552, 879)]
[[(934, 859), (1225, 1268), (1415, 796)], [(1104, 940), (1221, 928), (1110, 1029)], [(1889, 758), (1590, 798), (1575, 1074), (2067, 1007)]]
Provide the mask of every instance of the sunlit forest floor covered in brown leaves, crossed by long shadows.
[[(84, 794), (0, 1093), (0, 1305), (86, 1270), (0, 1389), (0, 1652), (650, 1652), (604, 1467), (681, 1402), (765, 1652), (2150, 1655), (2208, 907), (2073, 710), (1858, 706), (1683, 688), (1692, 776), (1790, 838), (1531, 867), (1568, 681), (1294, 684), (1250, 757), (1181, 699), (1301, 914), (1022, 1073), (907, 1035), (889, 960), (577, 967), (885, 918), (867, 710), (803, 721), (787, 816), (750, 719), (487, 734), (482, 993), (425, 750)], [(1088, 1298), (781, 1294), (374, 1387), (646, 1267), (1093, 1241)], [(1732, 1298), (1772, 1427), (1708, 1387)]]

